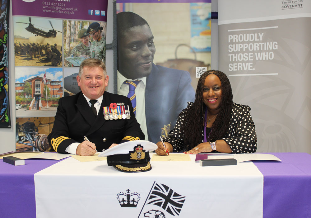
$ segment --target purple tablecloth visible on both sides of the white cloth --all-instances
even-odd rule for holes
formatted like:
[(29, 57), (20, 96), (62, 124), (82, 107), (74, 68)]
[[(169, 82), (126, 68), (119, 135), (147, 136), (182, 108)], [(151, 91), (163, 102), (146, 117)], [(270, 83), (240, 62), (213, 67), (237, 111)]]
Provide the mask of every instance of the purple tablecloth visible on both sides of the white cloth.
[[(282, 161), (253, 161), (264, 176), (263, 217), (311, 218), (311, 155), (269, 154)], [(36, 217), (34, 174), (57, 162), (34, 159), (13, 166), (0, 160), (0, 216)]]

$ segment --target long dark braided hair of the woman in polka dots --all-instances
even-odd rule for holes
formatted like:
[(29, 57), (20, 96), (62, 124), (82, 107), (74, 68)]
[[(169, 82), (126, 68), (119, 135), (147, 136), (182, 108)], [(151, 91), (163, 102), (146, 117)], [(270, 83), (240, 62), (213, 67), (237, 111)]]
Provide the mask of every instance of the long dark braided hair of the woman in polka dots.
[(211, 127), (210, 134), (207, 136), (207, 141), (210, 139), (218, 140), (224, 138), (229, 129), (233, 107), (233, 95), (230, 81), (225, 73), (218, 70), (209, 70), (203, 73), (199, 78), (194, 103), (192, 107), (189, 107), (185, 112), (185, 125), (183, 125), (181, 131), (184, 134), (184, 145), (187, 150), (202, 143), (202, 126), (204, 123), (204, 113), (206, 108), (206, 105), (202, 100), (203, 86), (205, 79), (210, 74), (215, 74), (220, 79), (221, 102), (220, 111)]

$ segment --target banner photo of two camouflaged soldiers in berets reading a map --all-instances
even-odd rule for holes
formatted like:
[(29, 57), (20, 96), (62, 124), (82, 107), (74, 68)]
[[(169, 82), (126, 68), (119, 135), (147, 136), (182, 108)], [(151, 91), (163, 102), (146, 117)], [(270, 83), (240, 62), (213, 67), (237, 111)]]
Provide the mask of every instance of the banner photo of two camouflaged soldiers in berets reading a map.
[(106, 60), (106, 22), (63, 21), (64, 66), (79, 67), (86, 58)]

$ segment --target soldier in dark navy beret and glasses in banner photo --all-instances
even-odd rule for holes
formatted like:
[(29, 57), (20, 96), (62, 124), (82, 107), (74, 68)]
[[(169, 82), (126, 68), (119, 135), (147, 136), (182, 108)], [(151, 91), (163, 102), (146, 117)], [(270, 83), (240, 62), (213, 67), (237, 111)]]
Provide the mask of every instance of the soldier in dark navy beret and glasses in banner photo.
[(106, 62), (106, 38), (102, 35), (103, 27), (99, 23), (91, 23), (87, 32), (92, 36), (93, 42), (90, 47), (91, 58)]

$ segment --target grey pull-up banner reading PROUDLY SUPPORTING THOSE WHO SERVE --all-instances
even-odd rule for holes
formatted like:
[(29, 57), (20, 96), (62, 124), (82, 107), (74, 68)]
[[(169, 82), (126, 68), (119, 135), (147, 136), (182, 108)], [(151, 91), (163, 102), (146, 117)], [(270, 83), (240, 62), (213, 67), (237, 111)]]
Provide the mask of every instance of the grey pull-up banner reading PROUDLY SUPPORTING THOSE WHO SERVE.
[(219, 68), (252, 108), (258, 152), (311, 153), (311, 4), (219, 0)]

